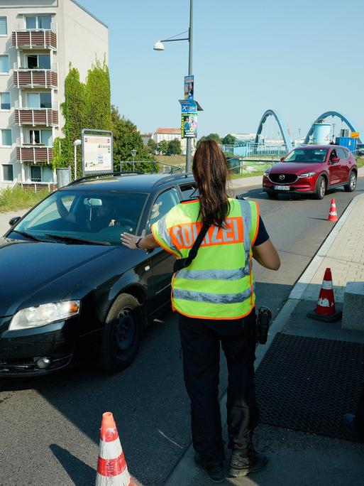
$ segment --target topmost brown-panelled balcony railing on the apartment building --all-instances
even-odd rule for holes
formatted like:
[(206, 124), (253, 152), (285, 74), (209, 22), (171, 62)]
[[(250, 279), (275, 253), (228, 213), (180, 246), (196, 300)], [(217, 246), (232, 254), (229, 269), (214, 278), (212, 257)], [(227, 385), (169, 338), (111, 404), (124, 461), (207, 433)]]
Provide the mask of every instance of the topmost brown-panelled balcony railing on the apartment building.
[(52, 23), (50, 29), (19, 29), (13, 26), (13, 45), (17, 49), (52, 49), (57, 50), (57, 24)]

